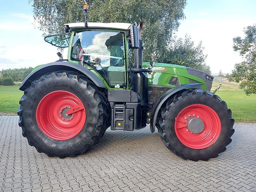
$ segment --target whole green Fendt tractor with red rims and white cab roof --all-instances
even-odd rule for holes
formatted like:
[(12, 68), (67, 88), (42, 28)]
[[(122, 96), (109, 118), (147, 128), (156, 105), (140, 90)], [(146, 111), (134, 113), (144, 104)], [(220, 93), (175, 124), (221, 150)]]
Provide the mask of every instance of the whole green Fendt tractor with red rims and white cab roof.
[[(68, 59), (38, 66), (20, 85), (19, 126), (28, 144), (48, 156), (83, 154), (106, 129), (150, 124), (183, 159), (217, 157), (234, 133), (227, 104), (210, 92), (203, 71), (142, 62), (143, 22), (68, 23), (45, 41), (68, 47)], [(134, 52), (134, 59), (130, 52)]]

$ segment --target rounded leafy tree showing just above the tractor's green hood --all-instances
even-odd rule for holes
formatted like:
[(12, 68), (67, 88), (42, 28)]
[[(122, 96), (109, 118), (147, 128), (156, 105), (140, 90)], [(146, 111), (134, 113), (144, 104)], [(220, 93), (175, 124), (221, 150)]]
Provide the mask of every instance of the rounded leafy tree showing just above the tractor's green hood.
[(167, 46), (165, 56), (161, 58), (161, 62), (183, 65), (185, 67), (196, 68), (211, 74), (210, 67), (204, 63), (207, 55), (203, 53), (204, 47), (200, 41), (197, 46), (191, 40), (191, 37), (186, 35), (185, 39), (173, 38)]

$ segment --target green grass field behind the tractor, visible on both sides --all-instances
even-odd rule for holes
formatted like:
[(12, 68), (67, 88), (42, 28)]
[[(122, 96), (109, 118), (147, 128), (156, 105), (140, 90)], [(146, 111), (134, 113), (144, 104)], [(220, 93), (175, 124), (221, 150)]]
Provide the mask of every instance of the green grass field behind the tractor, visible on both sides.
[[(219, 85), (213, 81), (212, 92)], [(23, 92), (19, 86), (0, 86), (0, 113), (16, 113)], [(238, 122), (256, 122), (256, 95), (246, 96), (238, 86), (222, 84), (216, 92), (232, 110), (232, 117)]]

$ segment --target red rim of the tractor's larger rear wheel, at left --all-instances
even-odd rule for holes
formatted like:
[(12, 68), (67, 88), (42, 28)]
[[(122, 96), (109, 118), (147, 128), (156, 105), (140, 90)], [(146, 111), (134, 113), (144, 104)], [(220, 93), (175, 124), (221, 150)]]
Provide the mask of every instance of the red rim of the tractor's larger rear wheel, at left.
[[(67, 115), (68, 110), (80, 110)], [(50, 92), (43, 97), (36, 109), (36, 122), (40, 130), (54, 140), (75, 137), (84, 127), (86, 112), (82, 101), (67, 91)]]

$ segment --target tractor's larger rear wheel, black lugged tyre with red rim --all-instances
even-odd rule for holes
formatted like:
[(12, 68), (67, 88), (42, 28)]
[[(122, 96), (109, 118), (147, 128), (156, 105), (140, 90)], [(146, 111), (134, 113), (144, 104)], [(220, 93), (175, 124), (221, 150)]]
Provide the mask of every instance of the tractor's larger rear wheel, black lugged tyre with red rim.
[[(75, 112), (67, 115), (68, 110)], [(93, 82), (63, 71), (34, 80), (24, 91), (18, 110), (28, 144), (39, 153), (60, 158), (91, 149), (108, 128), (108, 114), (107, 98)]]

